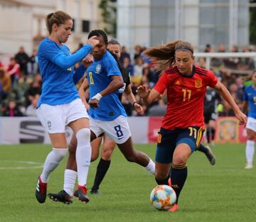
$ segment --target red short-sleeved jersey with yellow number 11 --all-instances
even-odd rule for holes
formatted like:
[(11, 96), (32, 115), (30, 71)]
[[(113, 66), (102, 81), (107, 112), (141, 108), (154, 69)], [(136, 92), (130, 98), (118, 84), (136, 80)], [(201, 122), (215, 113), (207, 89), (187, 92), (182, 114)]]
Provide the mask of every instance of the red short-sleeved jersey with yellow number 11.
[(206, 87), (214, 88), (217, 82), (213, 72), (198, 66), (193, 66), (189, 77), (178, 72), (176, 66), (166, 70), (154, 87), (160, 94), (167, 89), (168, 103), (161, 127), (167, 130), (203, 127)]

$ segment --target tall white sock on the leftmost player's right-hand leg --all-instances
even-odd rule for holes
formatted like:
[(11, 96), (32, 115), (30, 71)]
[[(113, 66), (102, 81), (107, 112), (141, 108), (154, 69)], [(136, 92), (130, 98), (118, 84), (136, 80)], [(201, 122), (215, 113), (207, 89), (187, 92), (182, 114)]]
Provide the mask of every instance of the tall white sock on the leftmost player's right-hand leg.
[(90, 146), (90, 129), (80, 129), (76, 134), (76, 138), (78, 140), (78, 146), (75, 152), (75, 158), (78, 166), (78, 185), (85, 186), (92, 155), (92, 148)]

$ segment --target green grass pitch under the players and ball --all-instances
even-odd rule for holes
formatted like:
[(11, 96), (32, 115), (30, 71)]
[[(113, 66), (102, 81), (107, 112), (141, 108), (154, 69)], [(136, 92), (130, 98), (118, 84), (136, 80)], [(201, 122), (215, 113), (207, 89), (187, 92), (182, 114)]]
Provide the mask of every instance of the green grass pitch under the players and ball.
[[(155, 145), (136, 145), (138, 150), (154, 160)], [(255, 168), (245, 170), (245, 145), (217, 145), (213, 149), (217, 160), (211, 166), (201, 152), (188, 161), (188, 179), (175, 213), (157, 211), (149, 202), (154, 177), (139, 165), (127, 162), (114, 151), (112, 164), (100, 191), (90, 195), (88, 204), (74, 199), (65, 205), (46, 199), (38, 204), (35, 198), (39, 168), (27, 161), (43, 163), (50, 145), (1, 145), (0, 147), (0, 221), (255, 221)], [(19, 162), (18, 162), (19, 161)], [(22, 162), (24, 161), (24, 162)], [(92, 186), (97, 167), (92, 162), (88, 186)], [(50, 176), (48, 192), (63, 189), (66, 159)], [(255, 165), (256, 167), (256, 165)]]

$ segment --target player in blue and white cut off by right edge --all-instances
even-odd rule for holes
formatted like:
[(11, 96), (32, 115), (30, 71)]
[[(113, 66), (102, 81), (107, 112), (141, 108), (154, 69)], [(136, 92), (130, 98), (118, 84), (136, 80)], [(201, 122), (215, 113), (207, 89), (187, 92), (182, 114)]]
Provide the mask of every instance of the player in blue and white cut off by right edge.
[(248, 121), (246, 125), (247, 142), (245, 148), (246, 165), (245, 169), (252, 169), (253, 156), (255, 152), (255, 136), (256, 136), (256, 70), (252, 72), (252, 85), (245, 88), (244, 109), (248, 109)]

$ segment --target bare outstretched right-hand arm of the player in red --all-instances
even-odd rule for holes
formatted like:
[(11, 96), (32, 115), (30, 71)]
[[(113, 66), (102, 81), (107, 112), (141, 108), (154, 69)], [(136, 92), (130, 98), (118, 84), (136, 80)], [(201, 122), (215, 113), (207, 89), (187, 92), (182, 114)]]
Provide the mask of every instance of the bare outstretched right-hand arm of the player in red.
[(245, 116), (244, 113), (242, 113), (238, 107), (238, 105), (235, 103), (235, 100), (233, 97), (230, 95), (230, 92), (228, 89), (220, 82), (217, 82), (215, 89), (220, 92), (220, 95), (223, 96), (223, 99), (228, 102), (228, 104), (231, 106), (233, 109), (235, 116), (239, 120), (240, 125), (246, 125), (247, 123), (247, 116)]

